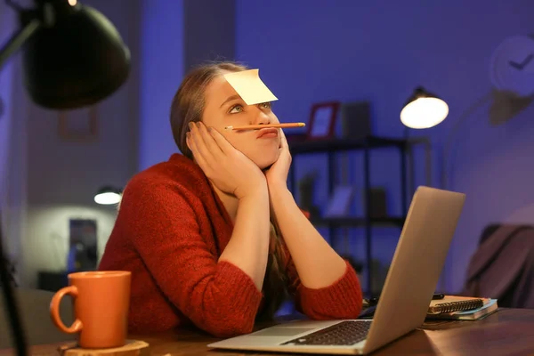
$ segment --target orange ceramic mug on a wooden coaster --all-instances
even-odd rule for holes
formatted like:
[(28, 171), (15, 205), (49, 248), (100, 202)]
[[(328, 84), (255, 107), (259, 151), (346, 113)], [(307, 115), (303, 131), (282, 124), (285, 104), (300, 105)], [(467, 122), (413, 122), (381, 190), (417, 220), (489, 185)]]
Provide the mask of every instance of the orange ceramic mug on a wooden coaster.
[[(69, 274), (69, 287), (53, 295), (50, 315), (62, 332), (76, 334), (84, 349), (105, 349), (124, 346), (130, 306), (129, 271), (87, 271)], [(70, 295), (75, 320), (70, 327), (61, 321), (61, 298)]]

